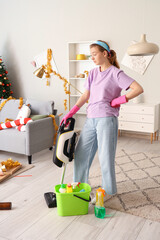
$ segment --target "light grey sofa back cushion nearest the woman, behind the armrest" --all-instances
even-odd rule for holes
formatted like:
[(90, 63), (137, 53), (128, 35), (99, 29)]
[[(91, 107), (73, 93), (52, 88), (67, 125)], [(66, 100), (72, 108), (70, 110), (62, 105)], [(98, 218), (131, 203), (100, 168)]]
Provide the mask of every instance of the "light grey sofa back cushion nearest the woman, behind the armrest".
[(40, 101), (27, 98), (26, 104), (31, 105), (31, 115), (49, 115), (53, 114), (54, 101)]

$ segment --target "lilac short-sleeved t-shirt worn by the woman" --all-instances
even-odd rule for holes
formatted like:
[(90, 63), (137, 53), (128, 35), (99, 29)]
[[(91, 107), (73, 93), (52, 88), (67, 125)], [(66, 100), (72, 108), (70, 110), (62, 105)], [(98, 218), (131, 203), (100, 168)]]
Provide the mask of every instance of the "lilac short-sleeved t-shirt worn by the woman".
[(92, 69), (85, 82), (85, 88), (90, 91), (87, 117), (118, 117), (119, 108), (111, 107), (110, 102), (121, 95), (122, 89), (127, 90), (133, 81), (113, 65), (103, 72), (99, 67)]

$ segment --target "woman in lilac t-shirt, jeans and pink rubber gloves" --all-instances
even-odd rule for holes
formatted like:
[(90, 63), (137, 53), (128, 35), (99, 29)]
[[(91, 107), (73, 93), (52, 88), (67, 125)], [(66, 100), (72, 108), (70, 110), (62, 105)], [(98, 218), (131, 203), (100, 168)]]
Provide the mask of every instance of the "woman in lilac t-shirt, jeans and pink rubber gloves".
[[(98, 149), (102, 187), (107, 194), (113, 195), (117, 192), (115, 153), (120, 105), (141, 94), (143, 88), (119, 69), (116, 53), (106, 42), (94, 42), (90, 52), (99, 67), (89, 72), (84, 94), (61, 123), (66, 124), (89, 99), (87, 120), (75, 151), (74, 181), (88, 182), (89, 169)], [(131, 91), (121, 96), (122, 89)]]

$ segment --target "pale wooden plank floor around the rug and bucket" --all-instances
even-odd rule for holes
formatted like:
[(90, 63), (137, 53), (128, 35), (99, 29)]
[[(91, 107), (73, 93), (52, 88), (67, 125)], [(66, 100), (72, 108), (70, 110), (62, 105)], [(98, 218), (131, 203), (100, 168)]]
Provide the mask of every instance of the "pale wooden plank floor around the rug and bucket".
[[(119, 137), (117, 151), (160, 153), (160, 142), (150, 143), (148, 139)], [(54, 191), (60, 183), (62, 170), (52, 163), (53, 152), (42, 151), (33, 156), (34, 167), (22, 175), (0, 184), (0, 201), (11, 201), (13, 208), (0, 211), (0, 240), (70, 240), (70, 239), (106, 239), (106, 240), (159, 240), (160, 223), (130, 214), (106, 209), (112, 217), (98, 219), (93, 206), (88, 215), (60, 217), (57, 209), (49, 209), (44, 193)], [(22, 164), (27, 163), (24, 155), (0, 152), (0, 159), (12, 157)], [(96, 168), (97, 158), (92, 165)], [(65, 182), (71, 182), (73, 163), (67, 167)]]

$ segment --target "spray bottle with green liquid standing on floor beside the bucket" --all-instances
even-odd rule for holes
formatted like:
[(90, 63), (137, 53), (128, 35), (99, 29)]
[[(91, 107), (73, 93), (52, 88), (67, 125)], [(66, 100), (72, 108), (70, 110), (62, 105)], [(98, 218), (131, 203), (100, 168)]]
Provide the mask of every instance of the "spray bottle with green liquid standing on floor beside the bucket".
[(96, 204), (94, 207), (94, 213), (97, 218), (104, 218), (106, 215), (106, 209), (104, 207), (103, 197), (105, 196), (105, 190), (98, 188), (96, 190)]

